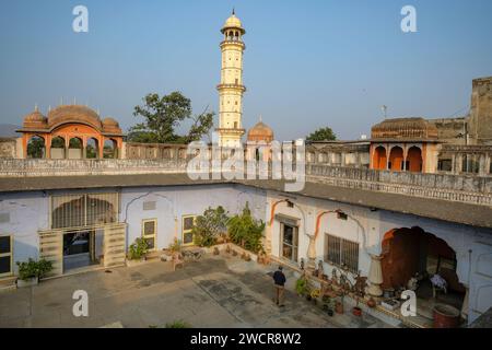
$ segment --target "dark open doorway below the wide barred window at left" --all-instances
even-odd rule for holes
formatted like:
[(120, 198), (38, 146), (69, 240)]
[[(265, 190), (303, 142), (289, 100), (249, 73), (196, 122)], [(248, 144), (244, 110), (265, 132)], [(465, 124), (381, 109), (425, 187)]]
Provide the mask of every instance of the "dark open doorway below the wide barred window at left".
[(101, 230), (70, 231), (63, 234), (63, 272), (99, 264), (103, 249)]

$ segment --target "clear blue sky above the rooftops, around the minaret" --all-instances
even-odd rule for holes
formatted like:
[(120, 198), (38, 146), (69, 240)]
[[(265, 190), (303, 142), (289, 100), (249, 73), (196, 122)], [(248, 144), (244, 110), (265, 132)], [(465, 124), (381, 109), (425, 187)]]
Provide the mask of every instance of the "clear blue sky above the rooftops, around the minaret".
[[(77, 4), (86, 34), (72, 32)], [(405, 4), (418, 33), (400, 31)], [(471, 79), (492, 75), (490, 0), (15, 0), (0, 8), (0, 124), (77, 97), (126, 129), (147, 93), (175, 90), (218, 112), (233, 7), (247, 31), (244, 124), (261, 114), (278, 140), (321, 126), (358, 138), (383, 104), (391, 117), (447, 117), (469, 105)]]

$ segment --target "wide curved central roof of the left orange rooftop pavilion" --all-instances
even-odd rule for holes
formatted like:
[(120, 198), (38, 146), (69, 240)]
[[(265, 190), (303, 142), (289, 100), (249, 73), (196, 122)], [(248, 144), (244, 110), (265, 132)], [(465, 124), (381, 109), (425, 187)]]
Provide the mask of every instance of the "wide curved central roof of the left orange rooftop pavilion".
[(102, 129), (102, 122), (98, 114), (86, 107), (80, 105), (58, 106), (48, 113), (48, 127), (54, 128), (66, 122), (82, 122), (87, 124), (97, 130)]

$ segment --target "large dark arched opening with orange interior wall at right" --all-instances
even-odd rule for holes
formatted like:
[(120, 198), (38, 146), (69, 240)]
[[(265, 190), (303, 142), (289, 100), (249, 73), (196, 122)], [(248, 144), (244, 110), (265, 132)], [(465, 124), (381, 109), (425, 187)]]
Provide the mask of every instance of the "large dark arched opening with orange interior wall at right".
[[(466, 289), (460, 283), (456, 252), (442, 238), (420, 228), (394, 229), (382, 242), (384, 290), (407, 290), (411, 278), (418, 278), (417, 307), (421, 316), (433, 318), (437, 303), (461, 310)], [(433, 288), (435, 276), (446, 281), (446, 289)]]

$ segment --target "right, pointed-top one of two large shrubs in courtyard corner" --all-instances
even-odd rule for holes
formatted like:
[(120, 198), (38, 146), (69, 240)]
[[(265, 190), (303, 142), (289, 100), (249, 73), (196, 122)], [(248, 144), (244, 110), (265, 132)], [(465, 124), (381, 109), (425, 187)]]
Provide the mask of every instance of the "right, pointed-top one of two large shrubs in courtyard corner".
[(242, 214), (234, 215), (229, 220), (227, 229), (229, 237), (233, 243), (254, 253), (262, 250), (261, 237), (265, 223), (253, 218), (247, 202)]

